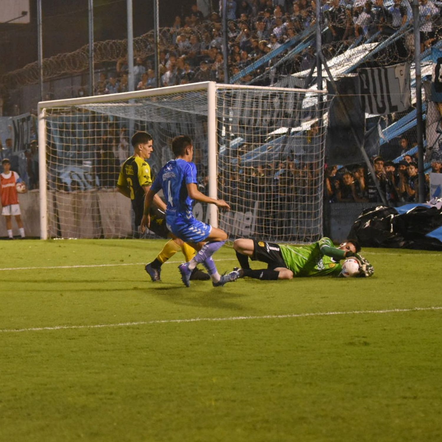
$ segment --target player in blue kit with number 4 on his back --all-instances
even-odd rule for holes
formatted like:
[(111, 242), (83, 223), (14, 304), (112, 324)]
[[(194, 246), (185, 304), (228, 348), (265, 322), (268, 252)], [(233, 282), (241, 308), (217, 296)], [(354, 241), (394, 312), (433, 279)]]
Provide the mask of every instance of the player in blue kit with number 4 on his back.
[(160, 189), (166, 199), (166, 222), (168, 229), (178, 238), (191, 244), (198, 253), (189, 262), (179, 265), (181, 279), (186, 287), (190, 286), (192, 270), (198, 263), (206, 267), (213, 286), (224, 286), (226, 282), (236, 281), (237, 271), (220, 275), (212, 259), (215, 253), (227, 240), (227, 233), (198, 221), (192, 213), (193, 201), (215, 204), (219, 209), (230, 209), (222, 199), (210, 198), (197, 187), (196, 166), (192, 163), (193, 145), (191, 137), (180, 135), (172, 140), (172, 151), (175, 160), (168, 161), (160, 170), (152, 187), (145, 196), (144, 215), (141, 220), (141, 230), (150, 225), (149, 211), (154, 197)]

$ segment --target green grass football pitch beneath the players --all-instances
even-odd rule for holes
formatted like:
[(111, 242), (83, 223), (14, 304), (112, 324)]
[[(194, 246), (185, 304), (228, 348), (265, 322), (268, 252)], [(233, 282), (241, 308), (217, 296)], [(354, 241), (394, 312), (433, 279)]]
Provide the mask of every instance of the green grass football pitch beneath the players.
[(187, 289), (163, 244), (1, 242), (1, 442), (442, 440), (441, 253)]

